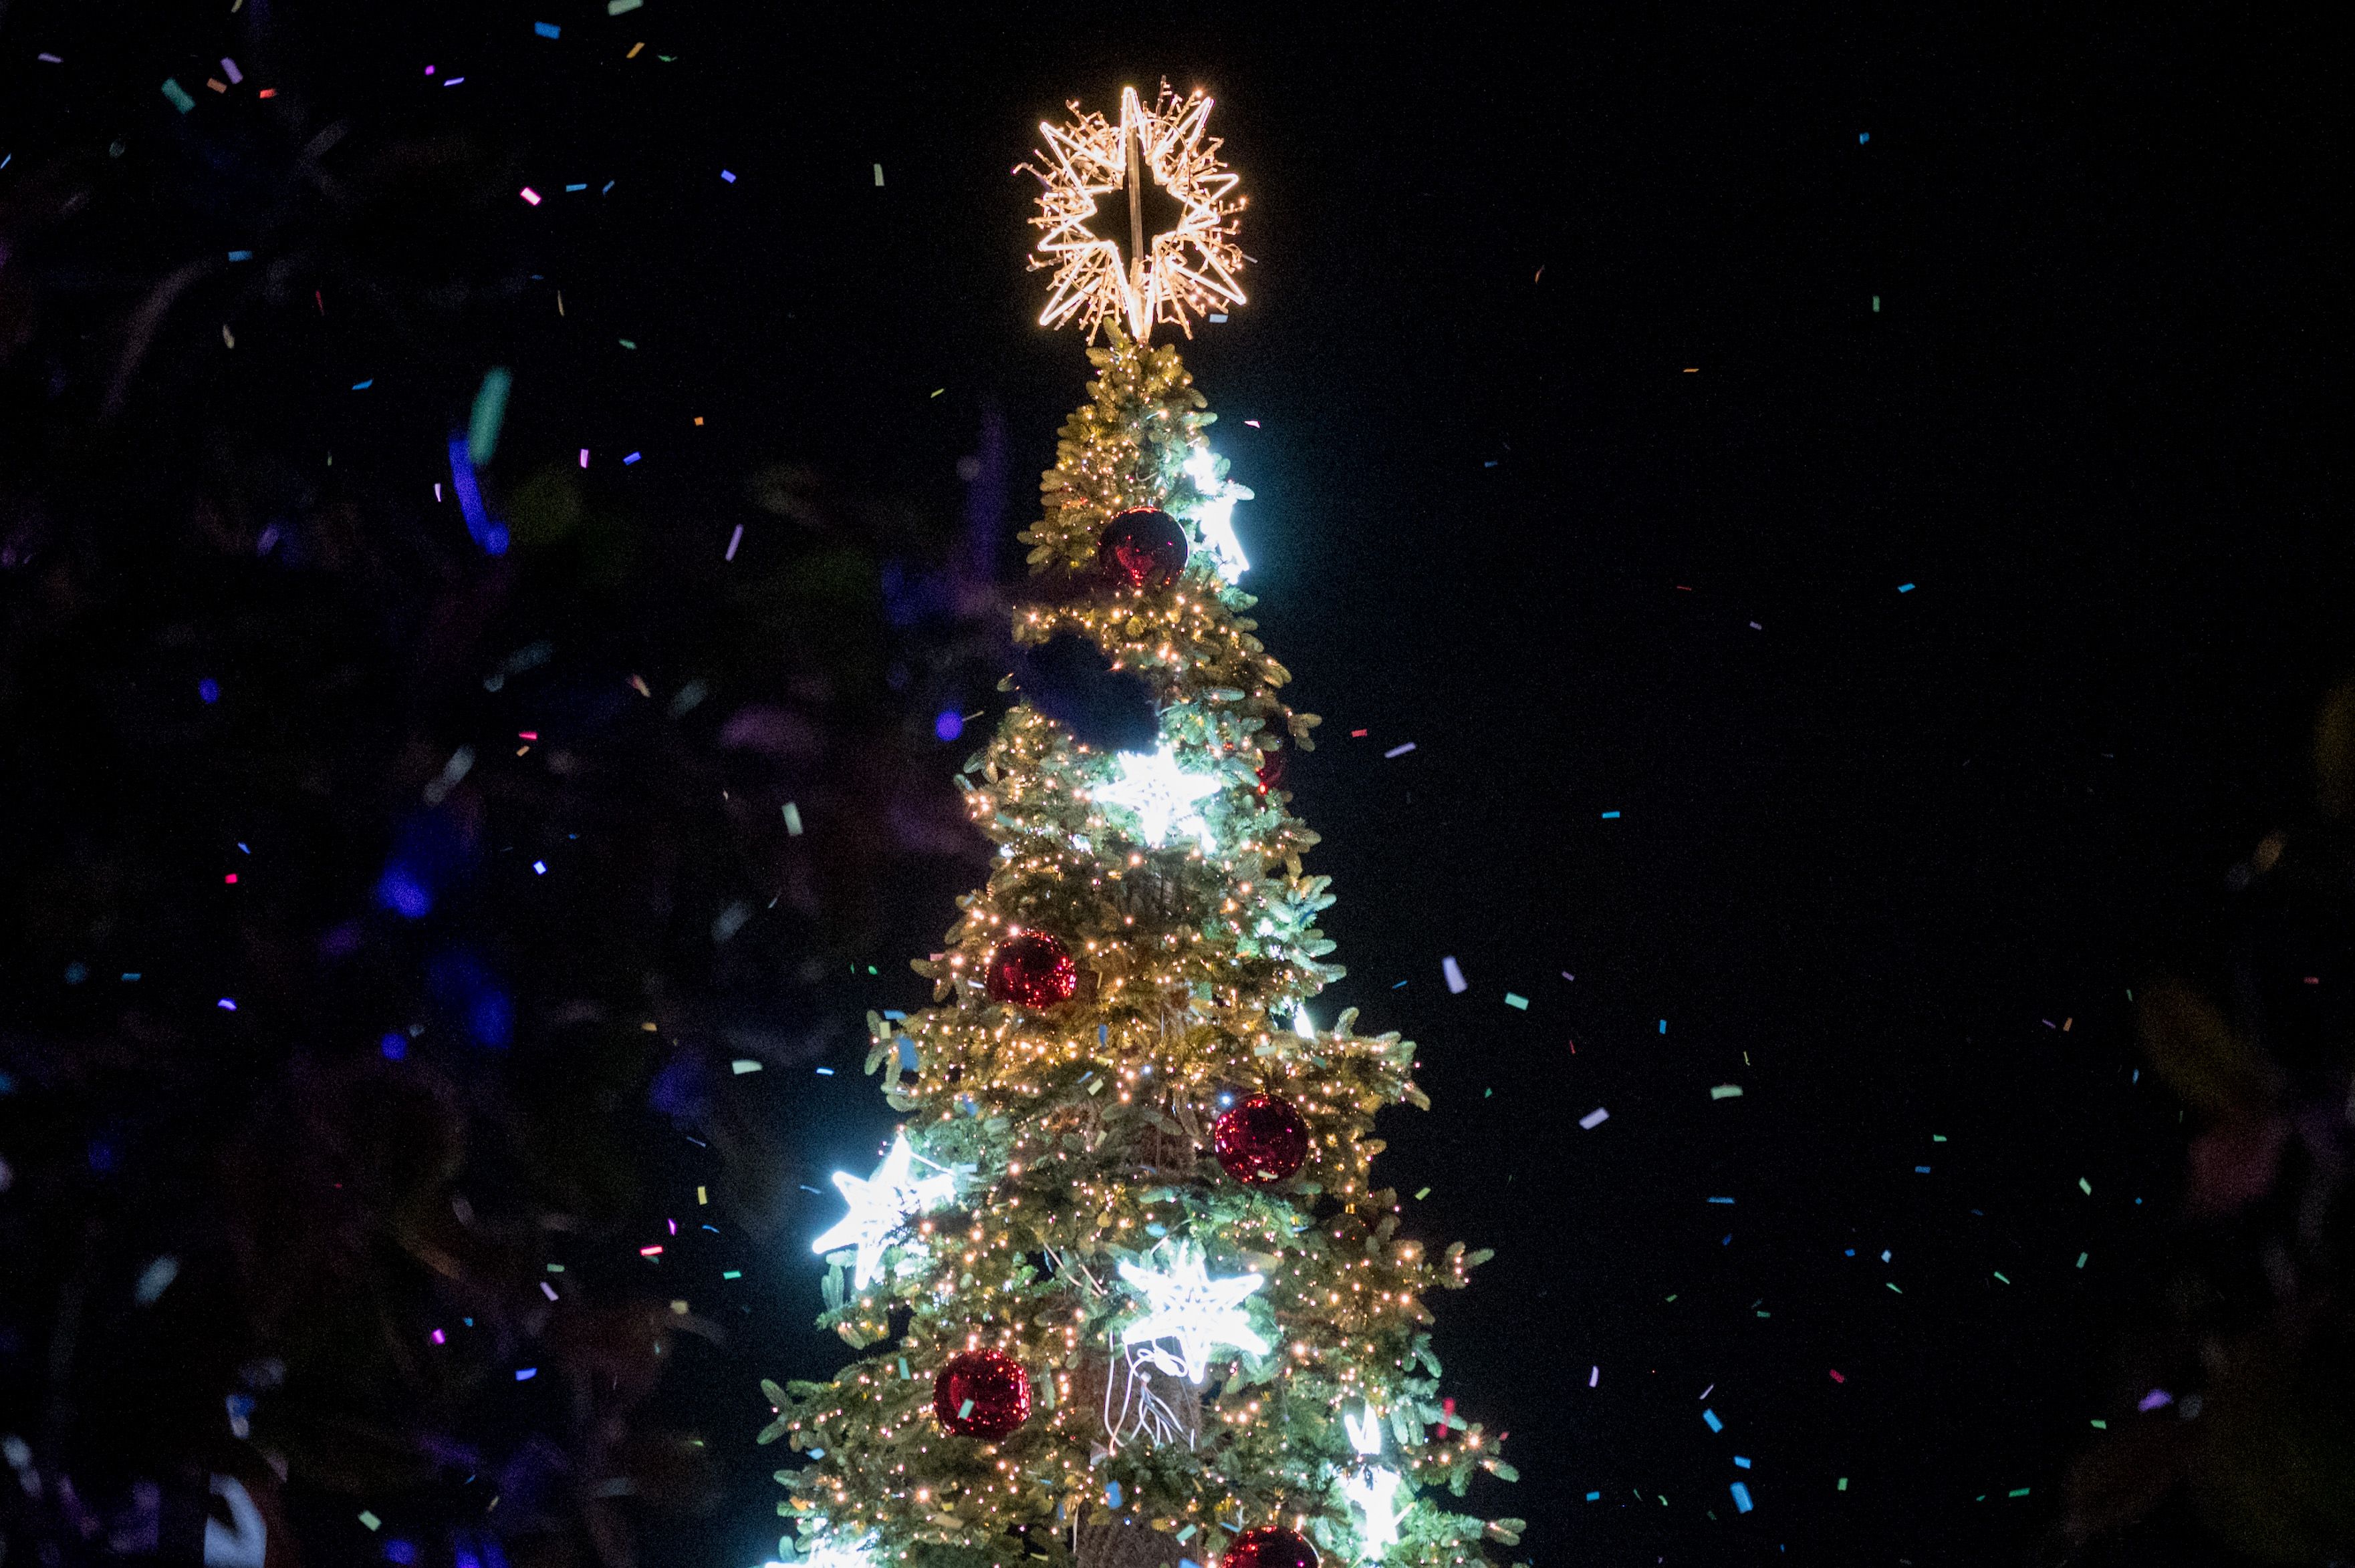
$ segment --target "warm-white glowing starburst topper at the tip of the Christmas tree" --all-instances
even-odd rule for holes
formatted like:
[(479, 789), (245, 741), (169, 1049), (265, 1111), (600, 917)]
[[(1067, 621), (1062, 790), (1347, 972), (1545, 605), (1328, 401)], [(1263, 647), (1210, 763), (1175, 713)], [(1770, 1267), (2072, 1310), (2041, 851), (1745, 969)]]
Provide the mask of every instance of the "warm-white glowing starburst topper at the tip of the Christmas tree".
[[(1243, 198), (1239, 179), (1220, 162), (1218, 137), (1206, 137), (1210, 99), (1187, 97), (1168, 82), (1147, 106), (1135, 87), (1121, 89), (1121, 118), (1069, 106), (1064, 125), (1039, 125), (1046, 151), (1022, 165), (1039, 177), (1039, 247), (1034, 268), (1053, 268), (1041, 327), (1079, 318), (1095, 337), (1107, 318), (1126, 320), (1140, 344), (1156, 323), (1194, 334), (1194, 315), (1243, 304), (1234, 275), (1243, 250), (1234, 219)], [(1097, 198), (1112, 198), (1100, 212)], [(1152, 207), (1175, 207), (1166, 228), (1147, 224)]]

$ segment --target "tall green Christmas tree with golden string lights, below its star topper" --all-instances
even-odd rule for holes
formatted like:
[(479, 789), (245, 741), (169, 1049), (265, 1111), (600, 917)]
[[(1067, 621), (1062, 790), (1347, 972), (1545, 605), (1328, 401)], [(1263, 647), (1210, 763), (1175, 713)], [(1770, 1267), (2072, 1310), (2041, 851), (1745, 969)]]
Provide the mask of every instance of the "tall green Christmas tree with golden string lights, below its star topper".
[[(829, 1384), (765, 1384), (763, 1441), (810, 1457), (777, 1474), (780, 1511), (803, 1556), (914, 1568), (1175, 1568), (1260, 1526), (1340, 1563), (1479, 1561), (1481, 1535), (1514, 1542), (1519, 1521), (1418, 1495), (1460, 1495), (1474, 1467), (1512, 1479), (1437, 1403), (1422, 1333), (1422, 1295), (1462, 1285), (1484, 1253), (1397, 1238), (1397, 1194), (1373, 1184), (1375, 1111), (1427, 1107), (1413, 1045), (1352, 1034), (1352, 1012), (1307, 1031), (1298, 1012), (1340, 977), (1314, 925), (1331, 897), (1300, 866), (1316, 833), (1262, 768), (1316, 718), (1281, 702), (1288, 673), (1220, 570), (1246, 492), (1210, 457), (1213, 414), (1175, 348), (1114, 332), (1090, 358), (1100, 379), (1024, 534), (1034, 596), (1015, 636), (1079, 633), (1142, 676), (1161, 753), (1090, 749), (1020, 702), (966, 763), (999, 864), (914, 965), (937, 1005), (869, 1019), (869, 1071), (909, 1114), (911, 1154), (845, 1187), (853, 1220), (824, 1241), (864, 1248), (831, 1255), (820, 1323), (876, 1354)], [(1137, 506), (1187, 520), (1173, 584), (1097, 560)], [(991, 961), (1034, 932), (1072, 956), (1074, 994), (994, 1001)], [(1253, 1095), (1307, 1123), (1288, 1180), (1246, 1184), (1213, 1156), (1220, 1114)], [(951, 1431), (1006, 1415), (975, 1410), (963, 1382), (935, 1408), (935, 1377), (968, 1351), (1027, 1375), (1029, 1415), (1006, 1436)]]

